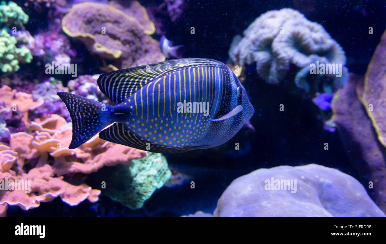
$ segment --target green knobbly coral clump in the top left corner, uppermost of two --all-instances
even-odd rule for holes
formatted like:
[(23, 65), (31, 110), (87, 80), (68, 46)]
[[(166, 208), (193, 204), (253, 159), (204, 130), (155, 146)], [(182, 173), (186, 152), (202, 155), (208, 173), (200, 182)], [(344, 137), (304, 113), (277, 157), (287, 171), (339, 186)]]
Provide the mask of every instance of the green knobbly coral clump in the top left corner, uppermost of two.
[(0, 4), (0, 25), (1, 26), (23, 26), (27, 24), (28, 15), (24, 13), (22, 8), (20, 8), (14, 2), (5, 3), (2, 1)]

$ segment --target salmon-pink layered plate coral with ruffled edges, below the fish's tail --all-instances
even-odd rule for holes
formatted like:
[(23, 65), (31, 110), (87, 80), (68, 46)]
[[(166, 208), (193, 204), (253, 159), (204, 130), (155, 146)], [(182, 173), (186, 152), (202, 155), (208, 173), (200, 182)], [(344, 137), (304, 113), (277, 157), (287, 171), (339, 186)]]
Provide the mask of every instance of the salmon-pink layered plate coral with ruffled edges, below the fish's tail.
[[(47, 83), (39, 85), (43, 90), (54, 89)], [(61, 87), (56, 84), (56, 88), (58, 86)], [(5, 216), (8, 205), (28, 210), (56, 197), (61, 197), (71, 206), (86, 199), (96, 202), (100, 190), (82, 182), (72, 183), (71, 176), (90, 174), (104, 166), (129, 165), (132, 159), (147, 156), (144, 151), (104, 141), (97, 135), (79, 148), (68, 149), (72, 130), (66, 119), (52, 114), (30, 120), (29, 112), (43, 105), (45, 99), (52, 98), (49, 92), (35, 95), (37, 101), (32, 99), (32, 95), (11, 90), (8, 86), (0, 88), (0, 97), (5, 101), (1, 118), (6, 121), (12, 118), (5, 108), (14, 107), (22, 114), (27, 127), (25, 132), (10, 134), (9, 142), (0, 143), (0, 179), (9, 182), (30, 180), (30, 192), (16, 189), (11, 183), (8, 189), (0, 191), (1, 216)]]

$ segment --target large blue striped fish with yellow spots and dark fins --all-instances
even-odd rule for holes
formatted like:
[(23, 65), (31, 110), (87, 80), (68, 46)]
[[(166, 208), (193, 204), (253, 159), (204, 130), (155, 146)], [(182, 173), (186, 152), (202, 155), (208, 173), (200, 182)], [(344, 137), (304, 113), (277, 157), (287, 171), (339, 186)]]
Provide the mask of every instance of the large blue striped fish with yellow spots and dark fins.
[(212, 59), (172, 59), (121, 69), (100, 75), (97, 83), (117, 105), (58, 93), (72, 120), (70, 149), (98, 132), (104, 140), (151, 152), (215, 147), (232, 138), (254, 113), (237, 76)]

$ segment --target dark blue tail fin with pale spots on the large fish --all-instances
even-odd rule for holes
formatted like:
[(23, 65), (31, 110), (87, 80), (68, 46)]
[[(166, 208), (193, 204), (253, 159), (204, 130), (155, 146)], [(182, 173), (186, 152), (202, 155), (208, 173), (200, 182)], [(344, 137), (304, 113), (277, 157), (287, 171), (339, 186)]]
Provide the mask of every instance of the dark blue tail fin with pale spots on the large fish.
[(73, 135), (69, 149), (79, 147), (112, 122), (112, 105), (68, 92), (58, 92), (70, 114)]

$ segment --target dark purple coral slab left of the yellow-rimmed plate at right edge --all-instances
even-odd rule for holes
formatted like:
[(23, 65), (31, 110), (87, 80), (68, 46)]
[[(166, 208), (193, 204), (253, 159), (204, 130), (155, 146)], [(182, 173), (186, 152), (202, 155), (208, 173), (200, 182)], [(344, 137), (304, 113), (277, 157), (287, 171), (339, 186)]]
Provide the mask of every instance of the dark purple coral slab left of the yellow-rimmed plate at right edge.
[(336, 124), (350, 161), (363, 177), (374, 202), (386, 212), (386, 150), (376, 137), (376, 132), (367, 116), (367, 108), (358, 96), (363, 92), (363, 77), (350, 74), (347, 85), (337, 91), (332, 101), (332, 120)]

